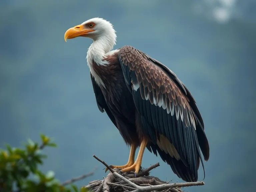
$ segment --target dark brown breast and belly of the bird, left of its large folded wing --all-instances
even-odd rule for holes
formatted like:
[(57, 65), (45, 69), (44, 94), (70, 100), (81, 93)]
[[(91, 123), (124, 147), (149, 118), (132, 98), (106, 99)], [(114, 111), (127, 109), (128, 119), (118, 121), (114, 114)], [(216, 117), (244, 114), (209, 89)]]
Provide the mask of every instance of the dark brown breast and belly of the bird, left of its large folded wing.
[(92, 68), (101, 78), (104, 85), (97, 84), (97, 77), (92, 75), (91, 80), (96, 96), (96, 102), (101, 112), (106, 111), (114, 125), (120, 131), (126, 144), (139, 146), (136, 132), (135, 105), (125, 84), (123, 72), (118, 60), (118, 52), (105, 58), (109, 65), (98, 65), (93, 61)]

